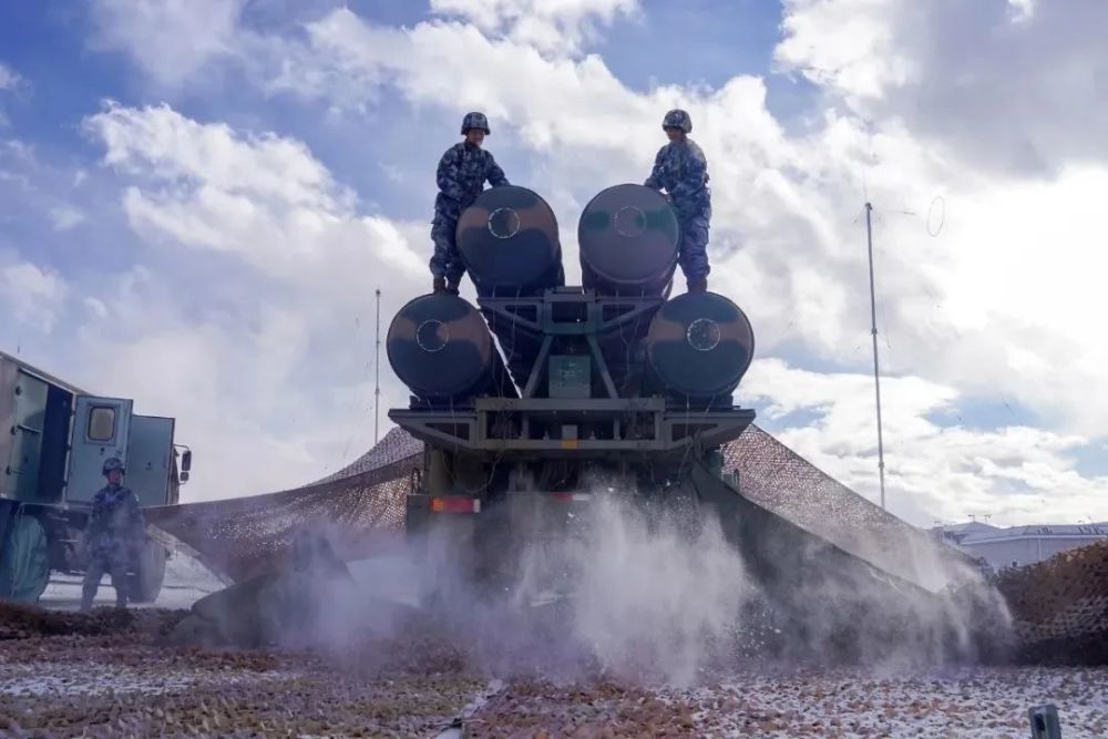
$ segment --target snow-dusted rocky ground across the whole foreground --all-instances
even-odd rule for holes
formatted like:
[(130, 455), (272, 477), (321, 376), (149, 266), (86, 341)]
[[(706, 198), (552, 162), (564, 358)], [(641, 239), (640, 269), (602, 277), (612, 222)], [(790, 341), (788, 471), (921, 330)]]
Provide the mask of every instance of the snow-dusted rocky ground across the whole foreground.
[(496, 681), (410, 633), (330, 654), (165, 645), (183, 613), (0, 608), (0, 736), (1022, 738), (1043, 702), (1067, 739), (1108, 736), (1108, 669)]

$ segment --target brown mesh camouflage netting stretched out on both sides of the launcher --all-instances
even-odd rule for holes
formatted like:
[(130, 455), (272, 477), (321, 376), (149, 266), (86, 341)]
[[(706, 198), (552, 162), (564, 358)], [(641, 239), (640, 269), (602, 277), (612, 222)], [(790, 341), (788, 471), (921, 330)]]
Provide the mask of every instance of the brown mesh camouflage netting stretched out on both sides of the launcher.
[[(422, 450), (393, 429), (352, 464), (310, 485), (152, 509), (148, 520), (235, 579), (276, 561), (290, 532), (306, 523), (330, 526), (336, 550), (350, 558), (396, 545), (404, 493)], [(937, 575), (942, 565), (958, 560), (755, 425), (728, 444), (725, 458), (753, 502), (893, 574), (937, 589), (944, 584)]]

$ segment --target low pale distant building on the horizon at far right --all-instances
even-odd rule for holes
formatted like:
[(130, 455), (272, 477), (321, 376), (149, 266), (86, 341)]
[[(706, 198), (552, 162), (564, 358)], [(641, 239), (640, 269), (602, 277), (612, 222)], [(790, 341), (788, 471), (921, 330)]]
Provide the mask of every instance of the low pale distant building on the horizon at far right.
[(1012, 526), (998, 528), (976, 521), (932, 528), (935, 536), (994, 571), (1024, 567), (1056, 554), (1108, 540), (1108, 523)]

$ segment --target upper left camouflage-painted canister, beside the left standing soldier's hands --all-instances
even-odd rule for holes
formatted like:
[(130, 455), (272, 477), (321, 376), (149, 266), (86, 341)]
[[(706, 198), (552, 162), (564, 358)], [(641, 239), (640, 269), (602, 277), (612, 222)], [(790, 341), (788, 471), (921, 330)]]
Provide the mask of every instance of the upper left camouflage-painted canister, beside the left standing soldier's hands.
[(535, 295), (565, 284), (557, 219), (526, 187), (492, 187), (458, 220), (458, 249), (481, 297)]

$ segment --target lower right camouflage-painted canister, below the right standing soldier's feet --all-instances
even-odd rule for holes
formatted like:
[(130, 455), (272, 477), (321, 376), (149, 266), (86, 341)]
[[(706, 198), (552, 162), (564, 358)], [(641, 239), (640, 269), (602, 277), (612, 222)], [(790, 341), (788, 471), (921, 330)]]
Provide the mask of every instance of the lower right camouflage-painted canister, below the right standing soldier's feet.
[(659, 390), (678, 398), (726, 399), (755, 353), (755, 335), (737, 305), (716, 292), (686, 292), (655, 315), (646, 355)]

